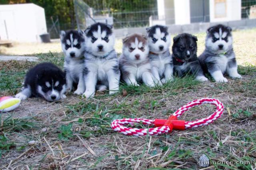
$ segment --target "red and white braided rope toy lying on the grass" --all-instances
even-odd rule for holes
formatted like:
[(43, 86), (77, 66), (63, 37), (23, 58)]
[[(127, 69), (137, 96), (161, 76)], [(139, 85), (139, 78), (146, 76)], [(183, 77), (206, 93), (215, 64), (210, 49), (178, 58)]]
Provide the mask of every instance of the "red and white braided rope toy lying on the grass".
[[(182, 121), (178, 120), (178, 117), (182, 115), (185, 111), (188, 111), (190, 108), (194, 106), (198, 106), (201, 104), (213, 104), (215, 105), (216, 111), (203, 119), (195, 120), (195, 121)], [(134, 136), (140, 136), (140, 135), (158, 135), (163, 133), (169, 133), (172, 132), (172, 129), (177, 130), (185, 130), (190, 129), (194, 127), (199, 127), (203, 125), (208, 125), (209, 123), (212, 123), (216, 119), (220, 118), (224, 111), (223, 104), (217, 100), (212, 98), (202, 98), (200, 100), (194, 100), (182, 107), (180, 107), (177, 111), (175, 111), (169, 118), (167, 119), (116, 119), (111, 123), (111, 127), (114, 131), (118, 131), (120, 133), (123, 133), (124, 135), (134, 135)], [(132, 127), (125, 127), (123, 125), (134, 123), (142, 123), (144, 125), (155, 125), (154, 128), (148, 128), (148, 129), (137, 129)]]

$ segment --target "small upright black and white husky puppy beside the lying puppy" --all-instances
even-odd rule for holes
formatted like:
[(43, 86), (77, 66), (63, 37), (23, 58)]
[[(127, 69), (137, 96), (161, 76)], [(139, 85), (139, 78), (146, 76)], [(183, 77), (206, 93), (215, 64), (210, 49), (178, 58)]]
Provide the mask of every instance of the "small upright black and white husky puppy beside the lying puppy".
[(73, 83), (77, 84), (77, 90), (74, 94), (83, 94), (84, 84), (84, 51), (85, 40), (82, 30), (61, 31), (61, 47), (65, 54), (64, 70), (66, 72), (67, 88), (71, 92)]

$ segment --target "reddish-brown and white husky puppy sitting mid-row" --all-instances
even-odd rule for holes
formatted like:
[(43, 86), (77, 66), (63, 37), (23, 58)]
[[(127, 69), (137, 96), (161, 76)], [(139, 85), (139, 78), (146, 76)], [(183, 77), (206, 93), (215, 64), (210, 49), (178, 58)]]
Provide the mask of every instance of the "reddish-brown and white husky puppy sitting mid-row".
[(142, 80), (147, 86), (154, 86), (148, 53), (149, 47), (146, 36), (133, 34), (123, 39), (119, 66), (122, 79), (127, 84), (138, 86), (138, 82)]

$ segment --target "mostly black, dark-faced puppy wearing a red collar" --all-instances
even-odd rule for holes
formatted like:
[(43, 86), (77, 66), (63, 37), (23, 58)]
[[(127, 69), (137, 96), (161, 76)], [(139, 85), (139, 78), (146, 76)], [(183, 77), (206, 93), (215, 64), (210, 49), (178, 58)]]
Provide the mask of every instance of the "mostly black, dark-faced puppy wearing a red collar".
[(195, 74), (196, 80), (207, 81), (197, 58), (197, 37), (183, 33), (173, 38), (172, 60), (178, 76), (186, 73)]

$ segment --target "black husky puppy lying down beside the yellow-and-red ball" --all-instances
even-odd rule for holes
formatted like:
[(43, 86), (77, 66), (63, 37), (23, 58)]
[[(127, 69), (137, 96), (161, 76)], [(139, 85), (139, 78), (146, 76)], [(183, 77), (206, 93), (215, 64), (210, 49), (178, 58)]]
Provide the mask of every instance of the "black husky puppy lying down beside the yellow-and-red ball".
[(49, 102), (54, 102), (66, 98), (65, 92), (65, 73), (52, 63), (41, 63), (28, 71), (22, 91), (15, 97), (21, 100), (42, 97)]

